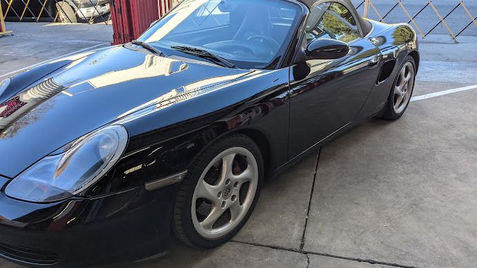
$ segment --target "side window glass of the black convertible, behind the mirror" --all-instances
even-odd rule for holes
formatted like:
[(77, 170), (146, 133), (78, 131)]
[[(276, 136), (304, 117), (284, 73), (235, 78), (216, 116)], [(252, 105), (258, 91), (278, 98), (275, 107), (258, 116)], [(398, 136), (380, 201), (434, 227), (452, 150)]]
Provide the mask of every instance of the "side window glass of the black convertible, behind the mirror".
[(340, 3), (322, 3), (314, 7), (305, 27), (308, 44), (320, 38), (336, 39), (345, 43), (359, 38), (353, 15)]

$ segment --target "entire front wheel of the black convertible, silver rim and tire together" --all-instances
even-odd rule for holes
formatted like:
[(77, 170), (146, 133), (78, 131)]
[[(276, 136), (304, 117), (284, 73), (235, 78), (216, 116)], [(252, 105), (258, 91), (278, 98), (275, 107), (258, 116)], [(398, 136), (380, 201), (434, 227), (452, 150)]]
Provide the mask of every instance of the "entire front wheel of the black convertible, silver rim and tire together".
[(173, 228), (187, 245), (212, 248), (243, 227), (258, 200), (263, 161), (258, 146), (235, 134), (208, 147), (179, 186)]

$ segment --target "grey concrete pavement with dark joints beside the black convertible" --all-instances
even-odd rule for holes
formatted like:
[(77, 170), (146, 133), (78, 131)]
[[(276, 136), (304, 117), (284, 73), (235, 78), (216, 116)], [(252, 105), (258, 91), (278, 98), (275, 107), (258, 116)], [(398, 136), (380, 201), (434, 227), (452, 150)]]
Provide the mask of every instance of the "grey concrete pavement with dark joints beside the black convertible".
[(174, 243), (164, 258), (123, 267), (475, 267), (477, 38), (459, 40), (422, 43), (413, 94), (422, 99), (267, 181), (232, 242), (208, 251)]

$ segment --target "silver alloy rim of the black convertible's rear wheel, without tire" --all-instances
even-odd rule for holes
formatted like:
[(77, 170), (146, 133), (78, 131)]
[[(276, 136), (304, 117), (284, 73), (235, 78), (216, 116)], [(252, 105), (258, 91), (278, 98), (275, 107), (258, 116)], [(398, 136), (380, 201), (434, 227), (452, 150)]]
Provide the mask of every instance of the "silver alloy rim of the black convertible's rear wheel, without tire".
[(414, 65), (409, 61), (403, 65), (394, 85), (393, 106), (396, 114), (402, 113), (411, 98), (414, 85)]

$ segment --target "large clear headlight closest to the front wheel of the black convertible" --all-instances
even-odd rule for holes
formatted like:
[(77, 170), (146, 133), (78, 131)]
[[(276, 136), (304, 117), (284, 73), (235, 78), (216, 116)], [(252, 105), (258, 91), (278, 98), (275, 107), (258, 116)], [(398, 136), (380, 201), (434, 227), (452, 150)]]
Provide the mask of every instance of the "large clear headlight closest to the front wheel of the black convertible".
[(81, 193), (118, 161), (128, 143), (128, 132), (112, 125), (79, 138), (66, 152), (46, 156), (8, 184), (12, 198), (54, 202)]

